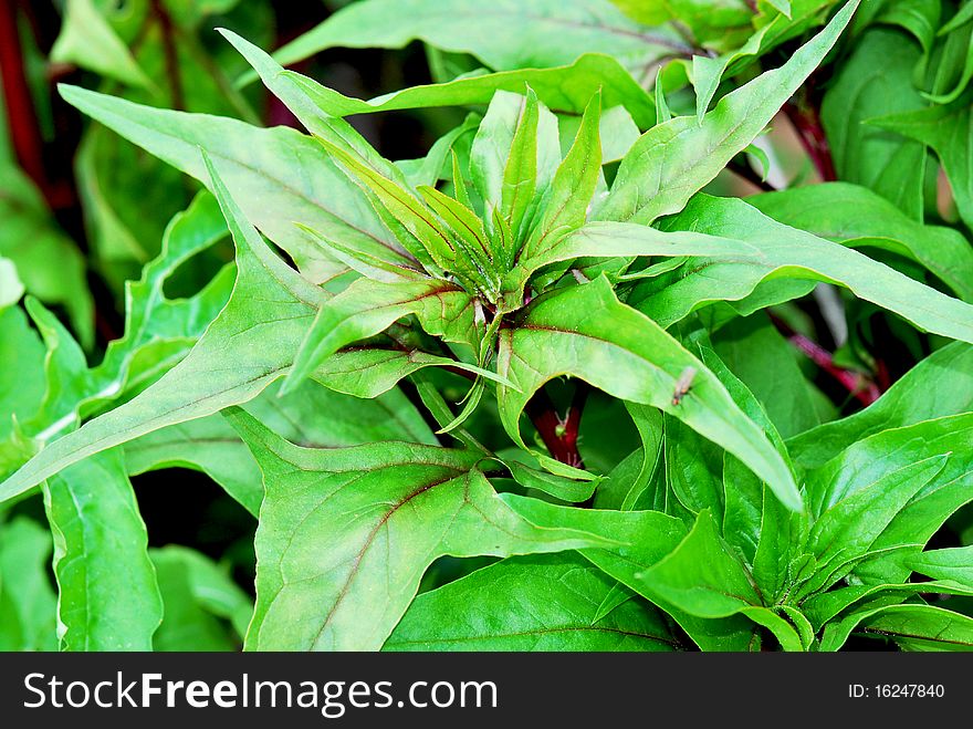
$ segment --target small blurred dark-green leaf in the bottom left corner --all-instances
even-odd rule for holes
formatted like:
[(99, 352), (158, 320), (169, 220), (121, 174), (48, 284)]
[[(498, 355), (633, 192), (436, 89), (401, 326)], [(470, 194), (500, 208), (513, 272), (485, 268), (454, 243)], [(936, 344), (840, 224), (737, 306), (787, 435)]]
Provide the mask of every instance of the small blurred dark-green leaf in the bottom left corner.
[(0, 524), (0, 648), (56, 650), (51, 535), (25, 517)]

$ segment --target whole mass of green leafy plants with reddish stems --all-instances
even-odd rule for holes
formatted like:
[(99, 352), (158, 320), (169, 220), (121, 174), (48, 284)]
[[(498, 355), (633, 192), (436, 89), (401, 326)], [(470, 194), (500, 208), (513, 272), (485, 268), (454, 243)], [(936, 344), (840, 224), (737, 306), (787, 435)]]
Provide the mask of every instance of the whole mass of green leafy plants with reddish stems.
[[(61, 646), (973, 645), (973, 15), (406, 4), (352, 3), (276, 60), (222, 31), (306, 134), (61, 87), (208, 189), (126, 284), (101, 364), (36, 299), (36, 332), (20, 293), (0, 310), (0, 501), (43, 494)], [(439, 83), (367, 102), (280, 65), (412, 39)], [(892, 42), (894, 84), (861, 93)], [(123, 50), (114, 77), (148, 81)], [(346, 121), (442, 106), (470, 111), (418, 159)], [(770, 188), (753, 162), (781, 174), (782, 108), (795, 179), (720, 195), (731, 171)], [(227, 230), (233, 262), (170, 299)], [(129, 477), (174, 466), (257, 518), (252, 606), (199, 553), (148, 548)], [(51, 545), (23, 515), (2, 530), (0, 637), (48, 647)]]

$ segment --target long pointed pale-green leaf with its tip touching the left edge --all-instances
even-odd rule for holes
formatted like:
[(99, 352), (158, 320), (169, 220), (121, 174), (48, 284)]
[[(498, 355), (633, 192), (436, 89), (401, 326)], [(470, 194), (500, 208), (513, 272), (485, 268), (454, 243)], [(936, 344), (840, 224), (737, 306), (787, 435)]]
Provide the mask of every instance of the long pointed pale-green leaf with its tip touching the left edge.
[(0, 485), (0, 502), (102, 450), (245, 403), (286, 373), (324, 293), (268, 249), (216, 175), (213, 185), (238, 247), (226, 309), (157, 383), (55, 440)]

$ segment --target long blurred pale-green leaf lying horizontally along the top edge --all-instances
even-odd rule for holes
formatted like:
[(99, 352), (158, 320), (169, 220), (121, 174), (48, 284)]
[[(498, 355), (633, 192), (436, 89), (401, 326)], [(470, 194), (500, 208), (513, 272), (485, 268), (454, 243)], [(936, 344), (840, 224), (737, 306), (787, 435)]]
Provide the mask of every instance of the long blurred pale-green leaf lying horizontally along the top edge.
[(328, 18), (287, 43), (275, 58), (291, 65), (328, 48), (404, 48), (420, 40), (444, 51), (471, 53), (494, 69), (571, 63), (583, 53), (614, 55), (630, 70), (689, 51), (666, 28), (647, 30), (607, 0), (367, 0)]

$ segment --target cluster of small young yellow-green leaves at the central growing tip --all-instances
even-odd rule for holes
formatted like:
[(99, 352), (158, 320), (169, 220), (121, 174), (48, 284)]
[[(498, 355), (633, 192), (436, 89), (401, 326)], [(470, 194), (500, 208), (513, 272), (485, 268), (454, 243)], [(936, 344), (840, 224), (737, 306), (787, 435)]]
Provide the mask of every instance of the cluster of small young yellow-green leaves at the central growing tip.
[[(482, 379), (513, 386), (489, 371), (504, 321), (563, 280), (571, 263), (551, 260), (558, 241), (580, 228), (596, 190), (607, 189), (598, 133), (600, 98), (592, 98), (562, 157), (557, 117), (529, 87), (499, 92), (479, 125), (464, 174), (450, 149), (451, 174), (437, 189), (410, 186), (377, 153), (322, 138), (333, 159), (358, 184), (398, 246), (364, 251), (305, 229), (329, 253), (362, 274), (321, 310), (289, 379), (293, 387), (328, 356), (386, 331), (406, 315), (449, 343)], [(448, 160), (442, 165), (449, 168)], [(583, 274), (577, 278), (584, 281)], [(571, 283), (574, 277), (567, 277)], [(530, 288), (529, 288), (530, 284)]]

